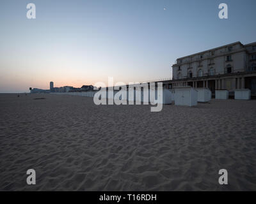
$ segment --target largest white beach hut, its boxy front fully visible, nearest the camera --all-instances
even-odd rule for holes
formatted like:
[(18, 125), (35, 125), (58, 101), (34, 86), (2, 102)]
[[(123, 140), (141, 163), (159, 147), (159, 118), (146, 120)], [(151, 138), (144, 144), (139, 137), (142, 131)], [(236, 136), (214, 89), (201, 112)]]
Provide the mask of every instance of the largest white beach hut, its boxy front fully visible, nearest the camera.
[(175, 87), (175, 105), (196, 106), (197, 91), (192, 87)]

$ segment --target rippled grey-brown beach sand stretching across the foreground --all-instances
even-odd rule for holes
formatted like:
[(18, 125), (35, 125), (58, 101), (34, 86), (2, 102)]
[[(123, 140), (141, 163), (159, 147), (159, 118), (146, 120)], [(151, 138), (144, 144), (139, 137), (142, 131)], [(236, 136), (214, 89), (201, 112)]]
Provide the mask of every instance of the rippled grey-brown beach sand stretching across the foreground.
[[(37, 99), (34, 98), (45, 98)], [(256, 101), (96, 106), (0, 94), (0, 190), (256, 190)], [(26, 171), (36, 170), (36, 185)], [(228, 185), (218, 171), (228, 170)]]

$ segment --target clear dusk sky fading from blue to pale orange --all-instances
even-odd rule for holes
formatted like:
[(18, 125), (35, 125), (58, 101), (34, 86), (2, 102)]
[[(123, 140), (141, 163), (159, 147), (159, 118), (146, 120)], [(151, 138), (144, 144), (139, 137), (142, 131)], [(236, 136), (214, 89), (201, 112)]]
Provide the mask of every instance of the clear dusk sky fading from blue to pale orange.
[(178, 57), (256, 41), (255, 19), (255, 0), (1, 0), (0, 92), (171, 78)]

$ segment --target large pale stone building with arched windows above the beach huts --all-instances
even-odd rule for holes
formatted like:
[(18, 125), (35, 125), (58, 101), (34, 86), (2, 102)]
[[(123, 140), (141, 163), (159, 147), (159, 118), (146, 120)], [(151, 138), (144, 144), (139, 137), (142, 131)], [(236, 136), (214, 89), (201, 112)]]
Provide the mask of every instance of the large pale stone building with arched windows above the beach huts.
[(241, 42), (180, 57), (172, 66), (173, 80), (164, 87), (186, 86), (216, 89), (251, 89), (256, 93), (256, 42)]

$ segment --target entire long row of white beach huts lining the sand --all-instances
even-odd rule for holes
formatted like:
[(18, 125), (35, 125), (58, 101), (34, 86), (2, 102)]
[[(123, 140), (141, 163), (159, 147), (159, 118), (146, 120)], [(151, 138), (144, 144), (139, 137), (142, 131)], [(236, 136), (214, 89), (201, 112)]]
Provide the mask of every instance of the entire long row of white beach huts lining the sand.
[[(88, 91), (88, 92), (58, 92), (54, 94), (68, 94), (72, 96), (86, 96), (86, 97), (93, 97), (95, 96), (96, 91)], [(117, 95), (118, 93), (118, 95)], [(133, 90), (132, 91), (113, 91), (113, 93), (102, 94), (101, 98), (108, 98), (114, 99), (119, 98), (120, 100), (127, 100), (127, 101), (140, 101), (142, 103), (163, 103), (163, 104), (172, 104), (174, 101), (175, 105), (182, 105), (182, 106), (196, 106), (197, 103), (207, 103), (211, 101), (212, 92), (206, 88), (198, 88), (194, 89), (193, 87), (175, 87), (172, 90), (163, 89), (163, 101), (159, 101), (159, 94), (154, 91), (153, 99), (150, 99), (150, 90), (148, 90), (148, 94), (141, 90), (140, 92)], [(133, 96), (132, 96), (133, 94)], [(245, 99), (248, 100), (251, 98), (251, 91), (250, 89), (236, 89), (234, 90), (235, 99)], [(137, 95), (137, 96), (136, 96)], [(122, 96), (124, 98), (122, 98)], [(227, 90), (216, 90), (215, 91), (215, 99), (228, 99), (228, 91)]]

